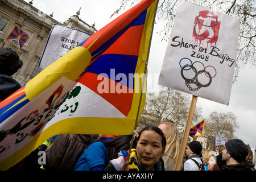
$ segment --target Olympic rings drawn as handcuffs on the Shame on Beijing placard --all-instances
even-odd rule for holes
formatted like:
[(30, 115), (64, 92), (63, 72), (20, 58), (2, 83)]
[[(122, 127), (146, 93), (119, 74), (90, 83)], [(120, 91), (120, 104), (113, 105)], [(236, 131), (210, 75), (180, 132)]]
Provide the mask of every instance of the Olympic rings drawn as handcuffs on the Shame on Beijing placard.
[[(181, 64), (181, 61), (184, 62), (184, 60), (186, 60), (186, 59), (189, 60), (189, 61), (185, 62), (185, 64), (184, 63)], [(197, 71), (198, 66), (197, 66), (197, 68), (195, 66), (196, 63), (199, 63), (203, 66), (199, 71)], [(195, 61), (193, 63), (187, 57), (184, 57), (183, 59), (181, 59), (180, 62), (179, 62), (179, 65), (180, 65), (180, 68), (181, 68), (181, 77), (183, 77), (183, 79), (185, 80), (185, 85), (191, 91), (199, 90), (202, 87), (208, 87), (212, 83), (212, 78), (216, 77), (216, 75), (217, 75), (217, 71), (212, 65), (208, 65), (207, 67), (205, 67), (204, 64), (201, 63), (200, 61)], [(184, 72), (189, 71), (191, 68), (192, 68), (193, 73), (195, 73), (195, 75), (192, 78), (185, 77)], [(210, 74), (209, 68), (213, 68), (212, 69), (213, 72), (211, 71), (211, 73), (213, 73), (213, 74)], [(208, 71), (207, 71), (207, 69), (208, 69)], [(208, 82), (205, 83), (205, 84), (203, 84), (199, 81), (199, 76), (201, 77), (202, 76), (201, 74), (203, 74), (203, 73), (208, 78)], [(201, 81), (205, 81), (205, 80), (206, 80), (205, 78), (201, 79)], [(191, 84), (195, 84), (197, 86), (197, 88), (192, 88)]]

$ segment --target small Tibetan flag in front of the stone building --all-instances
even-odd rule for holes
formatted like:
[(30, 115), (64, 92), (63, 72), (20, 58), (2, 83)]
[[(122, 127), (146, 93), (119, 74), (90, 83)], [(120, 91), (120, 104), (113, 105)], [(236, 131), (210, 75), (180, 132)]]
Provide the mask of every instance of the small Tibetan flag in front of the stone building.
[(22, 48), (30, 36), (24, 32), (17, 24), (15, 24), (10, 35), (6, 38), (8, 42), (13, 44), (16, 48)]

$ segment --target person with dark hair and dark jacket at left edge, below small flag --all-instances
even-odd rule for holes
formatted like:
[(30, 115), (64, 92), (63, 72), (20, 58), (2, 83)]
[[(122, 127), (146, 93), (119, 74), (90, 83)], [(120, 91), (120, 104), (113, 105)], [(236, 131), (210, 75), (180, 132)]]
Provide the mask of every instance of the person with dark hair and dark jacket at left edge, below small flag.
[(0, 102), (20, 88), (20, 84), (12, 75), (22, 68), (22, 60), (18, 53), (10, 48), (0, 48)]

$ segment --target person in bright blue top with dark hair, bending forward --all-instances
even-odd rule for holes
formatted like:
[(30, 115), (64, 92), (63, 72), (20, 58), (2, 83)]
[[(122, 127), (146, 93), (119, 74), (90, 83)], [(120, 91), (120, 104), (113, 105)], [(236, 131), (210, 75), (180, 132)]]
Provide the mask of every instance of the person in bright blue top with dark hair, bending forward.
[(129, 150), (132, 136), (119, 135), (111, 140), (90, 144), (77, 161), (74, 171), (103, 171), (110, 160), (118, 157), (120, 151)]

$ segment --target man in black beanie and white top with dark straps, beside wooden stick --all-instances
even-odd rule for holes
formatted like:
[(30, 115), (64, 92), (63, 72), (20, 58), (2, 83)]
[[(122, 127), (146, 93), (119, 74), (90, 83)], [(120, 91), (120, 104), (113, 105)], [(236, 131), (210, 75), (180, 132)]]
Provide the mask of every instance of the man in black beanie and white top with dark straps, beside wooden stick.
[[(192, 141), (188, 143), (185, 150), (188, 159), (184, 163), (184, 171), (199, 171), (203, 162), (201, 160), (202, 156), (202, 146), (198, 141)], [(203, 166), (204, 168), (204, 166)]]

